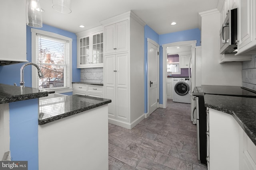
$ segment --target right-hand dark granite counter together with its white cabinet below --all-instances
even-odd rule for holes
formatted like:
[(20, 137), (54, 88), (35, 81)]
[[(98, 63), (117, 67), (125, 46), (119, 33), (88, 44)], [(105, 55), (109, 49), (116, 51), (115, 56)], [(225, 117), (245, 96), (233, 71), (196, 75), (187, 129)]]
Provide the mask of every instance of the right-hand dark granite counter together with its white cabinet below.
[(256, 169), (256, 98), (206, 94), (211, 169)]

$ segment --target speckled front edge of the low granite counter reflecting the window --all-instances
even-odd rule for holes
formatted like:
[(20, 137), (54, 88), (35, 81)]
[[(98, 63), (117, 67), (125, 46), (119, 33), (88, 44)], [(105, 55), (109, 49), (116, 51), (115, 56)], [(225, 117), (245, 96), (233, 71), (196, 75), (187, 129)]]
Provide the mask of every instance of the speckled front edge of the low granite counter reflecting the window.
[[(90, 109), (93, 109), (93, 108), (96, 108), (96, 107), (99, 107), (99, 106), (103, 106), (105, 104), (109, 104), (111, 103), (111, 100), (107, 100), (105, 102), (101, 102), (101, 103), (98, 103), (98, 104), (94, 104), (94, 105), (91, 105), (91, 106), (88, 106), (88, 107), (84, 107), (84, 108), (81, 108), (81, 109), (76, 109), (74, 111), (70, 111), (70, 112), (67, 112), (67, 113), (64, 113), (64, 114), (61, 114), (61, 115), (56, 115), (54, 117), (49, 117), (47, 119), (38, 119), (38, 125), (44, 125), (46, 123), (50, 123), (52, 121), (56, 121), (58, 119), (62, 119), (64, 117), (68, 117), (68, 116), (71, 116), (71, 115), (75, 115), (77, 113), (81, 113), (83, 111), (86, 111), (86, 110), (90, 110)], [(40, 117), (40, 115), (39, 115)]]

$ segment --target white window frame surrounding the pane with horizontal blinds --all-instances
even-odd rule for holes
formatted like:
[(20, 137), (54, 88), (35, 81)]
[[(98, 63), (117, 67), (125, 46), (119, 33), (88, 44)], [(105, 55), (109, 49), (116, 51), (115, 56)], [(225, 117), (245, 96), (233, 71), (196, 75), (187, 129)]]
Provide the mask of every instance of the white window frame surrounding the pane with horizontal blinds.
[[(66, 37), (64, 35), (59, 35), (57, 33), (52, 33), (49, 31), (43, 31), (40, 29), (31, 28), (31, 47), (32, 47), (32, 63), (36, 63), (36, 34), (46, 35), (49, 37), (54, 37), (57, 39), (63, 39), (69, 41), (69, 87), (58, 88), (58, 89), (46, 89), (49, 91), (55, 91), (57, 93), (72, 92), (72, 38)], [(36, 80), (38, 78), (38, 73), (35, 67), (32, 67), (32, 87), (36, 87)]]

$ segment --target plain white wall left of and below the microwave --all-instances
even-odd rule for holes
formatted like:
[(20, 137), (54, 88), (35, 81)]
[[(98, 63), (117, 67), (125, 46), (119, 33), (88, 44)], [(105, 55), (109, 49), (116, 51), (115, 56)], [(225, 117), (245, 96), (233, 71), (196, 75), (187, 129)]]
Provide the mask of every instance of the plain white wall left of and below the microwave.
[(242, 63), (220, 62), (220, 12), (217, 9), (200, 13), (202, 17), (202, 84), (242, 85)]

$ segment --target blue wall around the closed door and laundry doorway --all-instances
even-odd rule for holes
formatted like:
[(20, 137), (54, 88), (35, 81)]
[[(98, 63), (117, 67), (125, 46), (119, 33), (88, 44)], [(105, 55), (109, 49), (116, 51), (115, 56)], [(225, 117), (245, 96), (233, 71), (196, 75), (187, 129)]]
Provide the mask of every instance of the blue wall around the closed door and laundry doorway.
[(179, 41), (192, 41), (196, 40), (196, 46), (200, 46), (201, 31), (196, 29), (188, 29), (185, 31), (178, 31), (174, 33), (167, 33), (158, 35), (148, 25), (144, 28), (145, 31), (145, 113), (148, 112), (148, 43), (147, 38), (150, 38), (160, 45), (159, 49), (159, 104), (163, 104), (163, 48), (162, 45), (174, 43)]

